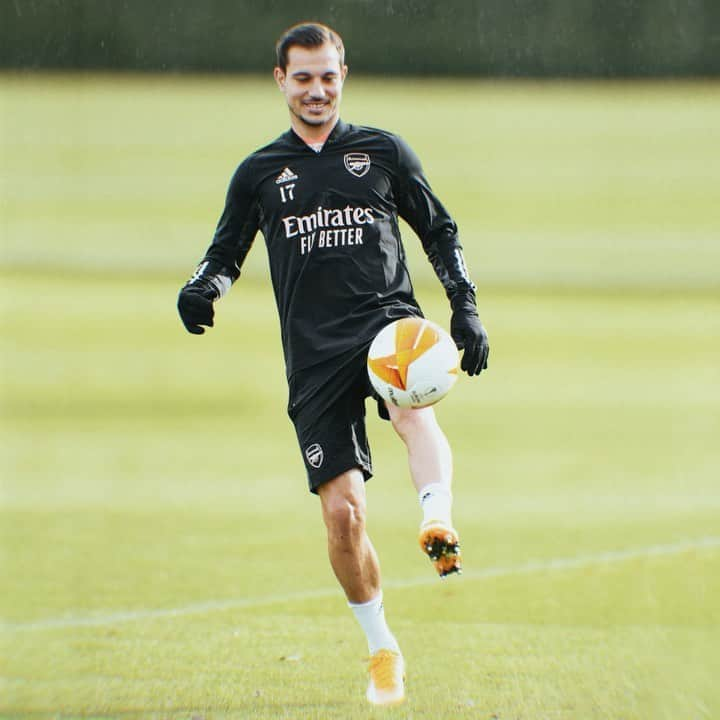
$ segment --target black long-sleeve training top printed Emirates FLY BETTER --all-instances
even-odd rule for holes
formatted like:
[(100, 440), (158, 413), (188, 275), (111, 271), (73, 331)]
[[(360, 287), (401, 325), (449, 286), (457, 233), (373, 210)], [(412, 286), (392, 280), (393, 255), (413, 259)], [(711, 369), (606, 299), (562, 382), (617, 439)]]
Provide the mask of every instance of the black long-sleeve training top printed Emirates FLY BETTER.
[(403, 140), (339, 121), (316, 152), (289, 130), (235, 171), (190, 283), (224, 294), (260, 230), (290, 377), (421, 314), (398, 217), (420, 238), (448, 296), (474, 290), (457, 227)]

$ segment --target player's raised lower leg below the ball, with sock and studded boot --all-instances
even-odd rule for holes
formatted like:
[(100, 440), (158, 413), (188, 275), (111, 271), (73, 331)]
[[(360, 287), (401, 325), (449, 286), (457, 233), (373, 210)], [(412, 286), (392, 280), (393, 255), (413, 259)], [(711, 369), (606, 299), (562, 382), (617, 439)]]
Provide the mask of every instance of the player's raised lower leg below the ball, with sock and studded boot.
[(462, 570), (460, 540), (452, 524), (452, 453), (432, 408), (387, 403), (393, 428), (408, 451), (410, 475), (423, 520), (419, 542), (440, 577)]

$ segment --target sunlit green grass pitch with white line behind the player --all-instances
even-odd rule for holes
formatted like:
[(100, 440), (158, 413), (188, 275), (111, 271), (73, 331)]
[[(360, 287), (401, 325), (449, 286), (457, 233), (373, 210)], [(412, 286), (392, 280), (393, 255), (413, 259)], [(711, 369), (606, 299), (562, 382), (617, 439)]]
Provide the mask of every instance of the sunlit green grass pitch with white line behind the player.
[(408, 662), (387, 713), (284, 414), (262, 238), (212, 332), (175, 312), (235, 165), (286, 127), (271, 81), (0, 91), (0, 717), (720, 717), (718, 84), (348, 80), (345, 119), (400, 132), (457, 219), (492, 344), (437, 409), (464, 577), (433, 577), (369, 418)]

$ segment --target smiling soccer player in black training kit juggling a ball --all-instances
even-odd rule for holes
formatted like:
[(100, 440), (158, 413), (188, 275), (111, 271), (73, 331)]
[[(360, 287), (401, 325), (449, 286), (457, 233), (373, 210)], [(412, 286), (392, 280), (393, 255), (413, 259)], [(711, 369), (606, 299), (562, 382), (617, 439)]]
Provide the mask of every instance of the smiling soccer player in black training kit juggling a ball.
[(419, 494), (420, 546), (441, 577), (459, 572), (451, 518), (452, 456), (432, 408), (402, 409), (374, 395), (366, 372), (375, 335), (402, 317), (422, 317), (405, 263), (398, 217), (418, 235), (452, 309), (461, 368), (487, 367), (488, 340), (457, 228), (413, 151), (396, 135), (339, 116), (347, 75), (337, 32), (305, 23), (276, 46), (275, 81), (290, 129), (237, 168), (212, 243), (180, 291), (187, 330), (213, 325), (213, 303), (238, 279), (258, 230), (267, 245), (280, 315), (295, 425), (310, 490), (320, 497), (328, 553), (367, 636), (367, 699), (405, 698), (405, 665), (385, 620), (380, 567), (365, 531), (372, 474), (365, 399), (378, 402), (404, 441)]

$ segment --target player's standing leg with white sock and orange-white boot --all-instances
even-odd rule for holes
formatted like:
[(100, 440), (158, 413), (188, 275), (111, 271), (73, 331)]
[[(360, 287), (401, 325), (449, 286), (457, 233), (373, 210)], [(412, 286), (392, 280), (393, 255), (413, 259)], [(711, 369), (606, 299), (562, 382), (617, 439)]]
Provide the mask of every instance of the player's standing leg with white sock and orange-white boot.
[(330, 564), (368, 641), (367, 699), (375, 705), (395, 705), (405, 699), (405, 666), (385, 620), (380, 564), (365, 529), (363, 474), (356, 468), (342, 473), (323, 483), (318, 495)]

